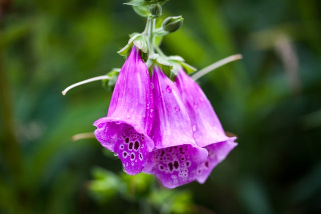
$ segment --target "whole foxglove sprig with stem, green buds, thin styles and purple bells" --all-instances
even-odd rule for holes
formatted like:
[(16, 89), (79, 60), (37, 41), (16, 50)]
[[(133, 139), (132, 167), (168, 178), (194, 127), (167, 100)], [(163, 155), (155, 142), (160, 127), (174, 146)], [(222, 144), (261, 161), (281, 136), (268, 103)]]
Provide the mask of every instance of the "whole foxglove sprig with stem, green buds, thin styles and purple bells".
[[(94, 122), (95, 137), (119, 157), (126, 173), (154, 174), (165, 187), (174, 188), (194, 180), (204, 183), (237, 143), (235, 137), (225, 135), (204, 92), (181, 66), (189, 72), (196, 69), (182, 57), (168, 57), (159, 48), (159, 38), (177, 31), (184, 20), (182, 16), (168, 17), (162, 26), (155, 26), (167, 1), (126, 3), (147, 21), (145, 30), (131, 34), (128, 44), (117, 52), (127, 57), (117, 80), (119, 70), (114, 69), (107, 75), (75, 83), (62, 94), (88, 82), (108, 80), (111, 86), (116, 80), (107, 116)], [(240, 58), (241, 55), (230, 56), (192, 77), (198, 78)], [(170, 71), (175, 82), (161, 68)], [(82, 133), (75, 139), (90, 136), (92, 133)]]

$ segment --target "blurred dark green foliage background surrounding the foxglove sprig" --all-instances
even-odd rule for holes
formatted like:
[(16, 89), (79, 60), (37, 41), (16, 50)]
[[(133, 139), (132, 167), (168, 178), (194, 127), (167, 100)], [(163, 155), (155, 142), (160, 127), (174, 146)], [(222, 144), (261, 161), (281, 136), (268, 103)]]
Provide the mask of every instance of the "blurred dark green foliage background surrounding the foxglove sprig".
[[(145, 21), (124, 1), (0, 1), (0, 213), (321, 213), (321, 2), (171, 0), (162, 48), (199, 80), (239, 145), (204, 185), (128, 176), (95, 139), (111, 93), (68, 85), (121, 67)], [(165, 17), (165, 15), (163, 15)]]

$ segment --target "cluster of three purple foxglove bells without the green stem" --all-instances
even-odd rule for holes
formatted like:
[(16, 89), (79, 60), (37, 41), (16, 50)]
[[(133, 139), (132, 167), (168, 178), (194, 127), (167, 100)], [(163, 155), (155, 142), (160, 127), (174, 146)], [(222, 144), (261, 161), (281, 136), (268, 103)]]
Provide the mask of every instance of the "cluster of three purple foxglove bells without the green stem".
[(182, 67), (170, 80), (157, 63), (149, 71), (134, 45), (122, 66), (106, 117), (95, 136), (130, 175), (154, 174), (165, 187), (204, 183), (237, 145), (211, 103)]

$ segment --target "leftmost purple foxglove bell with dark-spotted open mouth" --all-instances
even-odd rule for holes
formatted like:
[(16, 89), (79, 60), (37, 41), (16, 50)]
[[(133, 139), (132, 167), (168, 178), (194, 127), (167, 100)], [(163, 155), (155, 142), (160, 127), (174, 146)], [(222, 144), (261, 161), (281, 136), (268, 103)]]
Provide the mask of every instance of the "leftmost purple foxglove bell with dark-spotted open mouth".
[(148, 69), (133, 46), (119, 73), (107, 117), (94, 122), (97, 140), (118, 155), (130, 175), (142, 171), (153, 148), (148, 136), (152, 111)]

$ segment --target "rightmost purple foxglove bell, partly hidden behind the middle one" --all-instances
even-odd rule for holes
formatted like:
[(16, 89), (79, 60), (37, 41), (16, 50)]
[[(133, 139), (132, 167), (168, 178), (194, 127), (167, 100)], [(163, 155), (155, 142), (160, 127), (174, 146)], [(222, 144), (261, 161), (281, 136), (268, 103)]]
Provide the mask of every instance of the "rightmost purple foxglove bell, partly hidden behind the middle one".
[(192, 122), (195, 142), (208, 150), (207, 160), (197, 170), (197, 181), (204, 183), (212, 169), (237, 145), (227, 137), (215, 111), (200, 86), (181, 68), (175, 82)]

